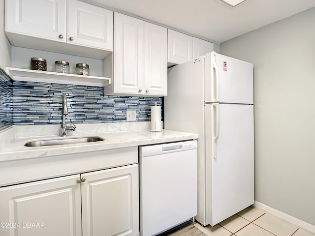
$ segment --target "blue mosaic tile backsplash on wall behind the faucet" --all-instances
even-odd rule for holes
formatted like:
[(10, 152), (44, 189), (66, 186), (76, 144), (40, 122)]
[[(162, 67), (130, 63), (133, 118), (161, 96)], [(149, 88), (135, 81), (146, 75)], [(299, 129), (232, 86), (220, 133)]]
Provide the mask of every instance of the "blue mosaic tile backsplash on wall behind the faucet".
[(126, 109), (136, 111), (137, 121), (150, 121), (149, 106), (162, 106), (162, 97), (104, 96), (102, 87), (14, 81), (13, 124), (60, 124), (63, 93), (66, 121), (74, 123), (123, 122)]

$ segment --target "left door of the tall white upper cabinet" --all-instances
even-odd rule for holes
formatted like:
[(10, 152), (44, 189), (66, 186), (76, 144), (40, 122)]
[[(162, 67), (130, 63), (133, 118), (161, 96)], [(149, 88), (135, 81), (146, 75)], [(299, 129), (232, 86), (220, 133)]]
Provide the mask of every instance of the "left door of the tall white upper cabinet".
[(142, 94), (143, 21), (114, 14), (114, 93)]

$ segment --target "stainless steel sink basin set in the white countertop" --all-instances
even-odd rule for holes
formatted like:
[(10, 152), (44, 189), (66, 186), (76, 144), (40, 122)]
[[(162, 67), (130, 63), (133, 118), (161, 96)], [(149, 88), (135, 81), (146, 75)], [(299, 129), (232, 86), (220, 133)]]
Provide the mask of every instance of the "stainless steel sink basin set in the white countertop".
[(84, 144), (91, 142), (103, 141), (104, 139), (99, 137), (84, 137), (84, 138), (62, 138), (62, 139), (51, 139), (51, 140), (38, 140), (26, 143), (26, 147), (42, 147), (52, 145), (63, 145), (63, 144)]

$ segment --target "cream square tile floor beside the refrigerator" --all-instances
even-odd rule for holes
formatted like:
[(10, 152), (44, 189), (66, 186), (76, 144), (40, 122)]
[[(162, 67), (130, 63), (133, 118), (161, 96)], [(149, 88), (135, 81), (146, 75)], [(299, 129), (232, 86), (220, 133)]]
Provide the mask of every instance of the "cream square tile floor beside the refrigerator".
[(207, 236), (315, 236), (265, 211), (248, 207), (218, 225), (194, 224)]

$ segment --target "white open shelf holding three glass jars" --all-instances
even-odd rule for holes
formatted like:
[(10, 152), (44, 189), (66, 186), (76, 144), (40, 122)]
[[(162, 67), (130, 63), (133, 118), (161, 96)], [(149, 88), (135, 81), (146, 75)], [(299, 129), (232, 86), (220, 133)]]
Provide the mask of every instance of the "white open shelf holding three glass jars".
[(6, 72), (15, 81), (28, 81), (52, 83), (63, 85), (83, 85), (106, 87), (111, 84), (111, 78), (98, 76), (85, 76), (76, 74), (63, 74), (50, 71), (39, 71), (6, 67)]

